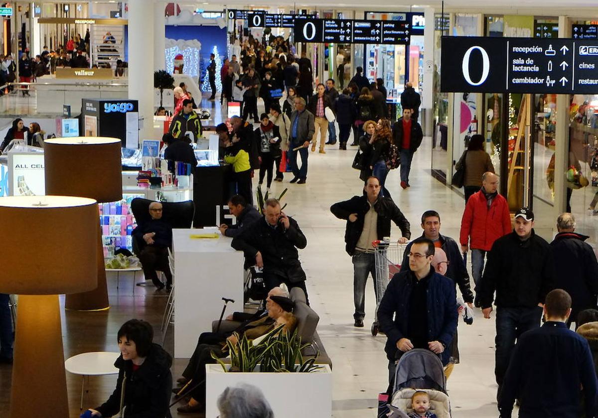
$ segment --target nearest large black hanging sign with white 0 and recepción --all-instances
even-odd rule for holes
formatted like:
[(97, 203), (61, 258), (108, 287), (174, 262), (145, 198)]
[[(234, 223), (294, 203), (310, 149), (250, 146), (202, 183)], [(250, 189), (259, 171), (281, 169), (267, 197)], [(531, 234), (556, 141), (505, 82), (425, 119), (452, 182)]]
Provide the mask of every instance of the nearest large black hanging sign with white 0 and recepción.
[(598, 41), (444, 36), (440, 90), (598, 93)]

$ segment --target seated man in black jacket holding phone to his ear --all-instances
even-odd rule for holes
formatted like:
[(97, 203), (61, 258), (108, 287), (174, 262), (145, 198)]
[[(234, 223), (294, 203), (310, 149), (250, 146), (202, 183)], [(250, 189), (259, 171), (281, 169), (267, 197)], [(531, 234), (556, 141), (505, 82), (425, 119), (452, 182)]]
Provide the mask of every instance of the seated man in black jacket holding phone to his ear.
[(231, 247), (243, 251), (247, 259), (255, 259), (255, 265), (264, 271), (266, 290), (281, 283), (289, 289), (299, 287), (305, 292), (309, 305), (306, 275), (297, 251), (297, 248), (307, 247), (307, 239), (297, 221), (280, 210), (277, 199), (267, 199), (264, 216), (237, 235)]

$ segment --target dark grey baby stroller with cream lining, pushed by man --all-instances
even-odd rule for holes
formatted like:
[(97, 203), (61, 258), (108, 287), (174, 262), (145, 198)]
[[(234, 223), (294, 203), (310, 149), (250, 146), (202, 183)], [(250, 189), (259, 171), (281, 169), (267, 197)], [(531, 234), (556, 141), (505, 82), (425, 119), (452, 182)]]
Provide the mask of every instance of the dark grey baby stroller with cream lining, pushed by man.
[(407, 351), (396, 364), (390, 417), (407, 417), (407, 413), (413, 412), (411, 397), (416, 391), (423, 391), (430, 397), (430, 411), (437, 418), (450, 418), (446, 383), (444, 367), (437, 355), (425, 349)]

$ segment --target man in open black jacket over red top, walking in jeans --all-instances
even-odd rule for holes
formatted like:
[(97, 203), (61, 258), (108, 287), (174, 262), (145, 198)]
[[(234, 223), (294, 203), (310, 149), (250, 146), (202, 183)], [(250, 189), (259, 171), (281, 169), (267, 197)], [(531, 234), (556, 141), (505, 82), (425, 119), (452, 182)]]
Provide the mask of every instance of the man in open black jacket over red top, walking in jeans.
[(407, 189), (411, 160), (423, 139), (422, 127), (411, 119), (411, 109), (403, 109), (403, 117), (392, 126), (392, 137), (401, 152), (401, 187)]

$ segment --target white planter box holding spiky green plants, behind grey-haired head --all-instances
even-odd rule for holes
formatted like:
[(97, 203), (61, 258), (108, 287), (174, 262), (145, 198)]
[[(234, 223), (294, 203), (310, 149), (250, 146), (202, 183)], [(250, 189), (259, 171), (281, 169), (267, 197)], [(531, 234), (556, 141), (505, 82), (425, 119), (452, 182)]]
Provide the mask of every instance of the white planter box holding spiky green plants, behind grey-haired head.
[(313, 373), (224, 373), (221, 365), (206, 364), (206, 418), (218, 416), (218, 397), (239, 383), (260, 388), (276, 418), (332, 416), (332, 371), (328, 364)]

